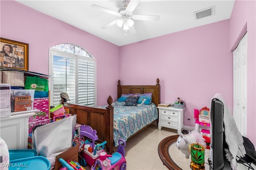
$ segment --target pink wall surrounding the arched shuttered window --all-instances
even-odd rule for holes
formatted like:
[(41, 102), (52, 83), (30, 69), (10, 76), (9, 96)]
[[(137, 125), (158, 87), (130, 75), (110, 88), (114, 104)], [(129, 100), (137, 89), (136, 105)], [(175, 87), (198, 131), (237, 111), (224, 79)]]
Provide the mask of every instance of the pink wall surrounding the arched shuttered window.
[(96, 58), (97, 105), (107, 104), (108, 95), (117, 97), (118, 46), (19, 2), (1, 0), (0, 3), (1, 37), (29, 44), (29, 71), (48, 74), (49, 47), (75, 44)]

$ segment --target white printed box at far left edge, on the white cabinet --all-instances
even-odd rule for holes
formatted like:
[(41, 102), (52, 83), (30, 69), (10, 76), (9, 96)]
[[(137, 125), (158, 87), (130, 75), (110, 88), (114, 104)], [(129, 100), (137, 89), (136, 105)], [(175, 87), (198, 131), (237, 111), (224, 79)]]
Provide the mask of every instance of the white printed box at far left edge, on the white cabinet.
[(0, 84), (0, 117), (10, 117), (11, 116), (11, 90), (10, 84)]

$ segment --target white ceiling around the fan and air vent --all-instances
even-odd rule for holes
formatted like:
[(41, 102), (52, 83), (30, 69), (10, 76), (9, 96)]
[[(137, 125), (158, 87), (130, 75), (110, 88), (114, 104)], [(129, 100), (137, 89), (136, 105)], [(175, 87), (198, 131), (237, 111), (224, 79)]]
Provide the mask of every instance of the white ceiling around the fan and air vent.
[[(234, 0), (141, 0), (133, 14), (158, 15), (160, 20), (134, 20), (137, 33), (132, 35), (128, 31), (125, 35), (122, 27), (116, 24), (108, 29), (101, 29), (118, 19), (118, 16), (91, 7), (96, 4), (117, 12), (122, 7), (122, 0), (16, 1), (118, 46), (229, 19), (234, 6)], [(215, 8), (213, 16), (195, 19), (194, 12), (211, 6)]]

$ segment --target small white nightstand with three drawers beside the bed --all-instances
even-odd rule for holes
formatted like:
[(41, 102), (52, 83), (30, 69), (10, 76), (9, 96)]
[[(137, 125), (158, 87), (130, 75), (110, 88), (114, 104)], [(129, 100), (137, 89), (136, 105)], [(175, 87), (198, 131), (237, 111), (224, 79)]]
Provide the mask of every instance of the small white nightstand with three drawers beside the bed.
[(159, 123), (158, 129), (161, 130), (162, 127), (168, 127), (171, 129), (176, 129), (178, 133), (183, 130), (183, 114), (184, 109), (178, 109), (174, 107), (157, 107), (159, 110)]

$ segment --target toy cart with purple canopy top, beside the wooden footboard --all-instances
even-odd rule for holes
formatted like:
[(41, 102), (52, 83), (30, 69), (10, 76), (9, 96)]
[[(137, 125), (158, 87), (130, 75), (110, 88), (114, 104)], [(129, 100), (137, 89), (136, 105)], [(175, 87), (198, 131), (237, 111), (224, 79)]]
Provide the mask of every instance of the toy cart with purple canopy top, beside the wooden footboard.
[(92, 143), (90, 141), (86, 140), (84, 145), (84, 150), (79, 153), (81, 156), (80, 163), (82, 166), (86, 166), (88, 163), (90, 166), (92, 166), (97, 158), (100, 156), (100, 152), (104, 151), (106, 141), (98, 144), (95, 146), (94, 141), (98, 140), (98, 136), (96, 135), (97, 131), (93, 130), (90, 126), (82, 125), (80, 127), (80, 135), (88, 137), (92, 140)]

